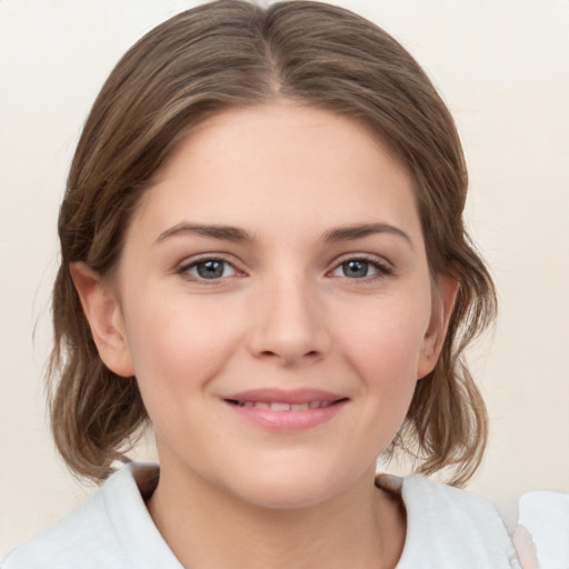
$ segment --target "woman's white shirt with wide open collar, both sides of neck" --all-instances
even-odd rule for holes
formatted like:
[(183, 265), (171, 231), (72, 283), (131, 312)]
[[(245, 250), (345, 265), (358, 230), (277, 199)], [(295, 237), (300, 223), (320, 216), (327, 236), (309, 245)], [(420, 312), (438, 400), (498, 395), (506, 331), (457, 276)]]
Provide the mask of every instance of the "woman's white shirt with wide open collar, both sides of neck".
[[(9, 553), (2, 569), (183, 569), (144, 505), (157, 481), (156, 465), (121, 468), (74, 512)], [(407, 510), (397, 569), (520, 568), (486, 499), (416, 476), (381, 476), (378, 483), (400, 493)], [(563, 512), (569, 519), (569, 498)], [(569, 553), (559, 563), (542, 569), (569, 568)]]

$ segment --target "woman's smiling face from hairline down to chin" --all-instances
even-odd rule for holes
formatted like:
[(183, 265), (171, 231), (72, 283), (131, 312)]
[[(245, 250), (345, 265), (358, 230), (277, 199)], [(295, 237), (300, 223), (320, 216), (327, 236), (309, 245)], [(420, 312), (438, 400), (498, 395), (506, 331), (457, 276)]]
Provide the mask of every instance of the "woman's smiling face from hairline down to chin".
[(162, 471), (271, 507), (369, 482), (443, 328), (405, 168), (286, 101), (181, 142), (111, 297), (101, 356), (136, 375)]

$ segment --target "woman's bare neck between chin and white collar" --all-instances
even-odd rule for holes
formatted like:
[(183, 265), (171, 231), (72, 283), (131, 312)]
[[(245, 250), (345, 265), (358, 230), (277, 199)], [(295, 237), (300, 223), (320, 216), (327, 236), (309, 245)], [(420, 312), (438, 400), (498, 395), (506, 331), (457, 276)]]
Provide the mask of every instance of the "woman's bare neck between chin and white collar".
[(405, 510), (373, 486), (373, 471), (322, 503), (276, 509), (162, 469), (148, 509), (192, 569), (393, 568), (405, 541)]

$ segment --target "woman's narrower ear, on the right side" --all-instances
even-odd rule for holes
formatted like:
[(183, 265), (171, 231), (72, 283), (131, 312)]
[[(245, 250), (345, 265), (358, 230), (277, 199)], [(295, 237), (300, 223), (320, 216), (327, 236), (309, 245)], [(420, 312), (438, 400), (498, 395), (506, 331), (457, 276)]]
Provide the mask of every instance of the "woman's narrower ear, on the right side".
[(455, 308), (459, 281), (452, 277), (441, 277), (433, 287), (432, 309), (429, 328), (423, 338), (422, 349), (417, 369), (417, 378), (428, 376), (439, 359), (447, 337), (449, 320)]

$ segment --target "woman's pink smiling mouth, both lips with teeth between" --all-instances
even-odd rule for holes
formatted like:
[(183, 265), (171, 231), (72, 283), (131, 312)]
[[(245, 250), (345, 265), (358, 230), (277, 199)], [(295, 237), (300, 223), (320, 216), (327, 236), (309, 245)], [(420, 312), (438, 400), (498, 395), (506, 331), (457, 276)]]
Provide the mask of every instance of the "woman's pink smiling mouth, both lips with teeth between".
[[(233, 412), (258, 427), (272, 431), (302, 431), (338, 415), (349, 398), (320, 389), (253, 389), (224, 396)], [(271, 408), (271, 403), (272, 408)]]

